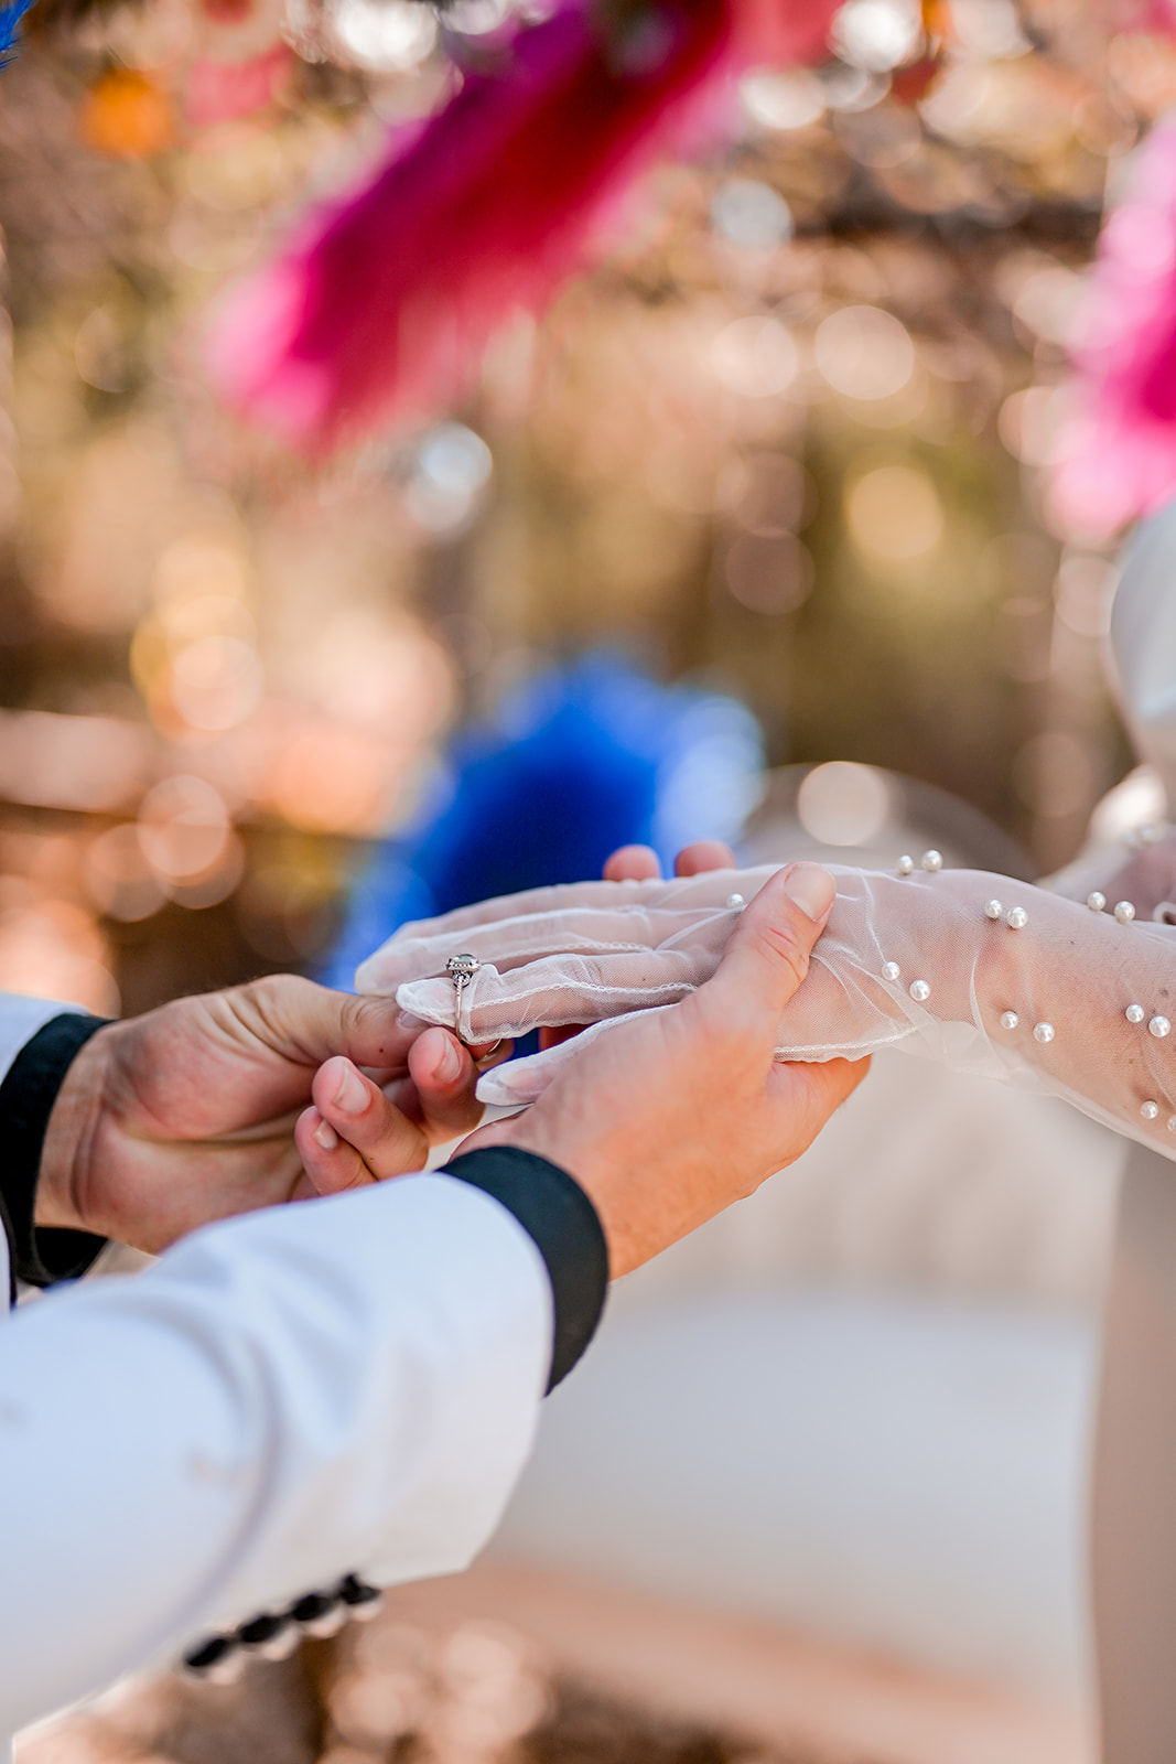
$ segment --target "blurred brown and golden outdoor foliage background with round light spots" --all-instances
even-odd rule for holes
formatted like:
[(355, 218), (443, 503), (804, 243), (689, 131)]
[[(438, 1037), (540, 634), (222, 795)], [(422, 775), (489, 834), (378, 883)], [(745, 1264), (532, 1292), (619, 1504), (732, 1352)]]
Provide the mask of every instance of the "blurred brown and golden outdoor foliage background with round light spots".
[[(33, 9), (0, 81), (0, 986), (316, 965), (446, 736), (614, 646), (1049, 870), (1128, 764), (1109, 549), (1038, 475), (1107, 180), (1176, 48), (1097, 0), (848, 0), (645, 180), (467, 407), (310, 473), (201, 321), (504, 0)], [(520, 811), (525, 811), (520, 808)], [(709, 831), (698, 827), (698, 833)]]

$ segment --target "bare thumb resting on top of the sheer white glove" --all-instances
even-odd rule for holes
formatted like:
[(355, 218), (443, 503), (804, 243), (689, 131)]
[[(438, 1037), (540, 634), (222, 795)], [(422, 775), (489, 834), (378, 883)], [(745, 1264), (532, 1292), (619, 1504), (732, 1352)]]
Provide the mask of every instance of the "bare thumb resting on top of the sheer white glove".
[(836, 898), (837, 884), (820, 864), (778, 870), (744, 908), (723, 960), (698, 988), (702, 1009), (728, 1034), (763, 1041), (774, 1053), (779, 1018), (809, 970), (809, 953)]

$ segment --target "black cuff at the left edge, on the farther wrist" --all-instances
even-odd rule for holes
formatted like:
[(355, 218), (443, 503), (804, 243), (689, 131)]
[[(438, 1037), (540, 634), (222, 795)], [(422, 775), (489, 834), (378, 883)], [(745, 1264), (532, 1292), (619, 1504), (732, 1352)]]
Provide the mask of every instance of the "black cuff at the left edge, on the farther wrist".
[(106, 1238), (33, 1224), (46, 1127), (74, 1055), (106, 1018), (76, 1011), (51, 1018), (26, 1041), (0, 1083), (0, 1214), (9, 1238), (11, 1298), (16, 1281), (51, 1286), (95, 1261)]

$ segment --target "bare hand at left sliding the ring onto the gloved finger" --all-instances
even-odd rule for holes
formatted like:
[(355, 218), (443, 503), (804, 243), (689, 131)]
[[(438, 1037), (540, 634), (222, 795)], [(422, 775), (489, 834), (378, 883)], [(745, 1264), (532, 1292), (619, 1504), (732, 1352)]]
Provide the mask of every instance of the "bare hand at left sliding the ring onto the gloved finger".
[(159, 1252), (213, 1219), (316, 1194), (294, 1124), (335, 1055), (395, 1083), (397, 1106), (376, 1094), (402, 1170), (481, 1117), (474, 1058), (446, 1030), (404, 1025), (390, 998), (272, 975), (111, 1023), (83, 1046), (49, 1117), (37, 1224)]

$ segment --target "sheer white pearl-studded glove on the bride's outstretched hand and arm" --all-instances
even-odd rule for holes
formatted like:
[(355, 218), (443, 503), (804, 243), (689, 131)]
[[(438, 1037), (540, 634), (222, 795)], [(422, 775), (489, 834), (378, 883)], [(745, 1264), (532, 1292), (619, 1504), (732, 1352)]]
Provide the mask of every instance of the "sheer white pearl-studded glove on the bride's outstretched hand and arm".
[[(781, 1020), (778, 1057), (859, 1058), (887, 1044), (1065, 1095), (1176, 1157), (1176, 928), (1120, 923), (986, 871), (830, 866), (837, 900), (809, 977)], [(598, 1027), (487, 1074), (480, 1095), (536, 1097), (605, 1018), (672, 1004), (714, 970), (741, 901), (770, 868), (672, 882), (536, 889), (406, 926), (360, 970), (363, 991), (453, 1025), (448, 956), (473, 953), (458, 1032)], [(1169, 1127), (1169, 1122), (1172, 1125)]]

